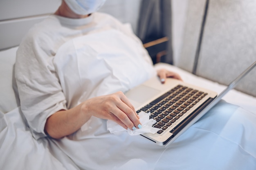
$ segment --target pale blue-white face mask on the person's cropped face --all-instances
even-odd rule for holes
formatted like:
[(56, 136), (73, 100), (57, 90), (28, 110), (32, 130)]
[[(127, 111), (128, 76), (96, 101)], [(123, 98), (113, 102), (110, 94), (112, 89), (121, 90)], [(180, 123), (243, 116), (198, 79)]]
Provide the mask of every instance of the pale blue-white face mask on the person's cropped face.
[(64, 0), (67, 6), (78, 15), (96, 12), (106, 0)]

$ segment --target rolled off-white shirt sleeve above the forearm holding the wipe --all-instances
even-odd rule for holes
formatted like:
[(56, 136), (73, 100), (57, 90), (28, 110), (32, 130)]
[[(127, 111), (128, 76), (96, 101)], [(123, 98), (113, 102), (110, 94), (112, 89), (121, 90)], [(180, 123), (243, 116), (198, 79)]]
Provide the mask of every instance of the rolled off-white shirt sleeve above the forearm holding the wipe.
[[(36, 32), (36, 31), (34, 31)], [(53, 55), (47, 36), (28, 35), (20, 44), (15, 77), (22, 113), (35, 139), (46, 136), (44, 127), (49, 116), (66, 110), (66, 99), (52, 64)], [(44, 50), (48, 49), (48, 50)]]

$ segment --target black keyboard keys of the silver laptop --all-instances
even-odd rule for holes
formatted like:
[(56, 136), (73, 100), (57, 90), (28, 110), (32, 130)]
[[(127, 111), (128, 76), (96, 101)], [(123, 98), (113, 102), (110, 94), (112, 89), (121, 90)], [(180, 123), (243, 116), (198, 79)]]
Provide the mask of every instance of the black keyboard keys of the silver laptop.
[(150, 112), (150, 119), (156, 120), (153, 127), (159, 128), (160, 130), (157, 133), (161, 134), (175, 121), (186, 115), (186, 112), (206, 95), (207, 93), (177, 85), (148, 105), (137, 110), (137, 113), (141, 111)]

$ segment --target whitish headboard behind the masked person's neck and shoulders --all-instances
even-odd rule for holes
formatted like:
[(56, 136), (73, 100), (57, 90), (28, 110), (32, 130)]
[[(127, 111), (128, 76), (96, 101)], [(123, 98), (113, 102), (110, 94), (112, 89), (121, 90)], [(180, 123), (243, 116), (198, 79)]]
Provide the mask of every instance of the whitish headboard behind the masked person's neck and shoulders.
[[(106, 0), (99, 11), (109, 13), (137, 30), (141, 0)], [(19, 45), (22, 37), (35, 23), (56, 11), (61, 0), (1, 0), (0, 50)], [(132, 12), (131, 12), (132, 11)]]

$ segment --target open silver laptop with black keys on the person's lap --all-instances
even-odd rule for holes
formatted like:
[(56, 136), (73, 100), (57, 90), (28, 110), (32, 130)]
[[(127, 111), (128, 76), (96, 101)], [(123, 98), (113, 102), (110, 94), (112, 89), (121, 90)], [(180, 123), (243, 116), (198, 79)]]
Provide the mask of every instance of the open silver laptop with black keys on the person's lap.
[(256, 66), (256, 61), (232, 81), (219, 95), (209, 89), (167, 78), (164, 84), (157, 76), (130, 89), (125, 95), (137, 113), (150, 112), (153, 125), (159, 128), (155, 134), (141, 134), (157, 145), (172, 143), (178, 136), (198, 121), (220, 99)]

